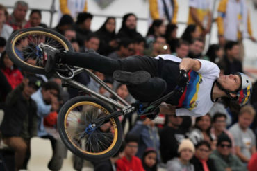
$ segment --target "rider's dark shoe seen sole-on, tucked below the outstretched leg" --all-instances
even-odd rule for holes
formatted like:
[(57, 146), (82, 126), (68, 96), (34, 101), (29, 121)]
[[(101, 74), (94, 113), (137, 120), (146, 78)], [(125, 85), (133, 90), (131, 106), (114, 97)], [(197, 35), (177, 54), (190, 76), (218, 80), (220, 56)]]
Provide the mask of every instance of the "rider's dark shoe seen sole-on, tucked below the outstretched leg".
[(138, 85), (147, 82), (149, 78), (151, 78), (151, 75), (147, 71), (136, 71), (131, 73), (117, 70), (113, 72), (113, 78), (124, 84)]

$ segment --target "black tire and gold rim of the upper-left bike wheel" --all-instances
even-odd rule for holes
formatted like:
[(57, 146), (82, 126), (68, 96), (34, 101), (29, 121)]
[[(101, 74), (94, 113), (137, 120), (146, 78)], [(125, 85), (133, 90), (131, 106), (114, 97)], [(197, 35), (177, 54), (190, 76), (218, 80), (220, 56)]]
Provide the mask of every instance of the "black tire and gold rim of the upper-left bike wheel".
[[(24, 60), (21, 59), (21, 57), (19, 57), (19, 55), (17, 55), (17, 52), (15, 51), (16, 50), (15, 45), (18, 44), (17, 42), (19, 41), (19, 39), (22, 39), (26, 36), (35, 37), (35, 35), (44, 36), (44, 37), (47, 37), (48, 39), (53, 39), (53, 41), (56, 41), (61, 46), (63, 46), (60, 48), (63, 51), (65, 51), (65, 50), (66, 51), (74, 51), (72, 44), (63, 35), (60, 35), (60, 33), (57, 33), (54, 30), (50, 30), (48, 28), (40, 28), (40, 27), (22, 28), (21, 30), (17, 30), (17, 31), (15, 31), (15, 33), (10, 35), (9, 39), (6, 42), (6, 53), (10, 57), (10, 60), (12, 60), (16, 66), (19, 66), (24, 71), (28, 71), (31, 73), (45, 74), (44, 67), (34, 66), (33, 64), (29, 64), (29, 63), (25, 62)], [(47, 39), (47, 38), (45, 38), (45, 39)], [(34, 43), (33, 41), (31, 41), (31, 42)], [(45, 42), (47, 42), (47, 40), (45, 40)], [(49, 41), (49, 42), (51, 42), (51, 41)], [(36, 44), (35, 44), (35, 46), (36, 46)], [(33, 52), (31, 52), (31, 53), (33, 53)]]

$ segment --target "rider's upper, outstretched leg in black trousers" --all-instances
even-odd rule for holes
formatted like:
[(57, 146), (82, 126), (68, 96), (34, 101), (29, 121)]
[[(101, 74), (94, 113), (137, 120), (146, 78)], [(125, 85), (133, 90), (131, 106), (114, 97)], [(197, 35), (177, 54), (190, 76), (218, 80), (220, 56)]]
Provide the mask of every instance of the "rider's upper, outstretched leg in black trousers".
[(58, 53), (59, 62), (93, 69), (107, 75), (113, 75), (116, 70), (122, 71), (147, 71), (151, 76), (157, 75), (158, 60), (146, 56), (131, 56), (121, 60), (114, 60), (110, 57), (99, 55), (98, 53)]

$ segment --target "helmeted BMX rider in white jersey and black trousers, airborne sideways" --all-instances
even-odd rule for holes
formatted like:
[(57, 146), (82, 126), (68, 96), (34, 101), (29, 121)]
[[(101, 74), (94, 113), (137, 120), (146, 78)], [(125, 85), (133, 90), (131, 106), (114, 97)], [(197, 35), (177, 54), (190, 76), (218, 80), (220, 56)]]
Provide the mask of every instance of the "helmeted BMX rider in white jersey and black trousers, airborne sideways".
[(219, 77), (219, 67), (206, 60), (181, 59), (169, 54), (155, 58), (135, 55), (115, 60), (92, 51), (74, 53), (51, 47), (42, 49), (48, 57), (44, 66), (47, 73), (60, 63), (113, 75), (118, 82), (128, 84), (128, 91), (140, 102), (153, 102), (179, 85), (183, 91), (160, 105), (161, 114), (204, 116), (219, 98), (245, 105), (251, 96), (252, 85), (247, 75), (235, 73)]

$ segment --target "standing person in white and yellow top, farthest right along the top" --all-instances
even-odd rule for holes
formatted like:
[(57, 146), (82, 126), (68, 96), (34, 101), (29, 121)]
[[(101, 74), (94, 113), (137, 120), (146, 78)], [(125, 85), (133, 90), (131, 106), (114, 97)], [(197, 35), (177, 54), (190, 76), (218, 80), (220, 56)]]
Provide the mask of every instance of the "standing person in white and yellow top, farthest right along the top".
[(246, 1), (219, 1), (217, 11), (219, 14), (217, 17), (219, 44), (224, 46), (227, 41), (239, 41), (240, 59), (242, 60), (244, 57), (242, 40), (247, 37), (250, 37), (252, 41), (256, 40), (251, 30), (250, 12)]

